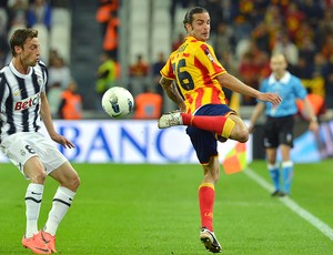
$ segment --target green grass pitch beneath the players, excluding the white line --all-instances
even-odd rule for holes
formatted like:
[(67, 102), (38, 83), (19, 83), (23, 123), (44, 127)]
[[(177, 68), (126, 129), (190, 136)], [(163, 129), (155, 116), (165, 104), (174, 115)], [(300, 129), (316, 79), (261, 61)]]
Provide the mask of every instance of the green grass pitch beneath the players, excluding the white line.
[[(333, 161), (296, 164), (291, 198), (333, 227)], [(81, 186), (57, 233), (61, 254), (209, 254), (199, 241), (199, 165), (75, 164)], [(265, 162), (250, 167), (269, 181)], [(28, 182), (0, 165), (0, 254), (21, 246)], [(48, 177), (39, 226), (57, 183)], [(214, 231), (223, 254), (333, 254), (333, 241), (272, 198), (244, 173), (216, 185)]]

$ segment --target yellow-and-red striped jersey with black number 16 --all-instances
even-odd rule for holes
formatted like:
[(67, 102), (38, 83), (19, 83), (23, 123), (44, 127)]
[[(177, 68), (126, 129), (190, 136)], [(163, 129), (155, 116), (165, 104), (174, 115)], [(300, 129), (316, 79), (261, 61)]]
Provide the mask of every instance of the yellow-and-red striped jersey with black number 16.
[(213, 48), (193, 37), (173, 51), (161, 75), (175, 80), (186, 112), (193, 113), (204, 104), (225, 104), (225, 95), (216, 76), (226, 72), (218, 61)]

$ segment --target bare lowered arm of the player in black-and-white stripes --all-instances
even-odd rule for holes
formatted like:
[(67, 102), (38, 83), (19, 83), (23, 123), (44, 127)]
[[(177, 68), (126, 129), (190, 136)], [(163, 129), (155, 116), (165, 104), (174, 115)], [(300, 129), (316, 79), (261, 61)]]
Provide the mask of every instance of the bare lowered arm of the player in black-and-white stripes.
[(48, 102), (47, 94), (44, 92), (41, 93), (41, 106), (40, 106), (40, 114), (43, 120), (43, 123), (46, 125), (46, 129), (50, 135), (50, 137), (61, 144), (64, 147), (74, 147), (74, 144), (72, 144), (69, 140), (67, 140), (64, 136), (58, 134), (54, 130), (52, 118), (51, 118), (51, 112), (50, 112), (50, 106)]

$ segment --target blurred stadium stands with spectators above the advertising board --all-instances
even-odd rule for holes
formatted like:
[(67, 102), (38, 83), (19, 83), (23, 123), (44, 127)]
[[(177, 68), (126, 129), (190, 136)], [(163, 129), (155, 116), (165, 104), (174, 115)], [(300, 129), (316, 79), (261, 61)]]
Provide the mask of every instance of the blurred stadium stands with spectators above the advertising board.
[[(175, 108), (158, 84), (159, 71), (182, 43), (183, 17), (193, 6), (209, 10), (209, 43), (231, 74), (259, 89), (270, 75), (270, 55), (284, 53), (289, 71), (302, 79), (319, 119), (330, 123), (332, 0), (1, 0), (0, 67), (11, 59), (12, 31), (36, 28), (41, 59), (49, 67), (48, 96), (54, 119), (108, 119), (101, 95), (120, 85), (135, 98), (135, 112), (127, 119), (154, 120)], [(228, 90), (225, 94), (249, 119), (255, 100)], [(149, 112), (137, 111), (147, 103), (151, 103)], [(75, 108), (78, 114), (64, 114), (67, 108)], [(301, 105), (297, 134), (305, 130), (304, 118)], [(254, 140), (260, 132), (259, 126)], [(254, 156), (263, 156), (260, 146), (254, 147)]]

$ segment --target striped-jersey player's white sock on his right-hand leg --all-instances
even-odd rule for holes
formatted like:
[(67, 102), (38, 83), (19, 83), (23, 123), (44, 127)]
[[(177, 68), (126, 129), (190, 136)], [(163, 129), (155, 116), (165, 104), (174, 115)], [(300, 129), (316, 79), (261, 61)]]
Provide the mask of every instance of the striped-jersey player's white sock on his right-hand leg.
[(71, 206), (74, 195), (75, 193), (67, 187), (58, 187), (53, 197), (53, 205), (49, 213), (49, 218), (43, 231), (51, 235), (56, 235), (59, 223), (62, 221), (68, 208)]

